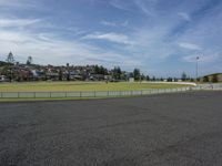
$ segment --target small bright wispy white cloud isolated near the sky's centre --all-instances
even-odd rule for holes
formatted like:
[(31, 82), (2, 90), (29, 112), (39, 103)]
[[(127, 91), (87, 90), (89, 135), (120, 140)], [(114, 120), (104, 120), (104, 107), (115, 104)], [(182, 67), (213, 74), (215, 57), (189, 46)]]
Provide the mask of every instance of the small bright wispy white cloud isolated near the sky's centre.
[(121, 43), (121, 44), (133, 44), (132, 41), (128, 38), (128, 35), (124, 34), (119, 34), (119, 33), (92, 33), (83, 37), (82, 39), (99, 39), (99, 40), (107, 40), (115, 43)]

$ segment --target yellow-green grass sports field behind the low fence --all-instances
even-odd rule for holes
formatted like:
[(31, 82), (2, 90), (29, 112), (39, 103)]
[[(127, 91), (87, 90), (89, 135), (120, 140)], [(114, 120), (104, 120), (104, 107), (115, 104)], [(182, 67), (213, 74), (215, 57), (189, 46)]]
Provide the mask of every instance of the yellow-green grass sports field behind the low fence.
[(132, 91), (145, 89), (173, 89), (188, 85), (162, 83), (104, 83), (104, 82), (37, 82), (0, 83), (0, 92), (69, 92), (69, 91)]

